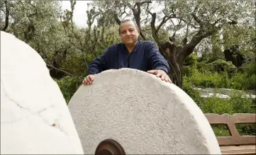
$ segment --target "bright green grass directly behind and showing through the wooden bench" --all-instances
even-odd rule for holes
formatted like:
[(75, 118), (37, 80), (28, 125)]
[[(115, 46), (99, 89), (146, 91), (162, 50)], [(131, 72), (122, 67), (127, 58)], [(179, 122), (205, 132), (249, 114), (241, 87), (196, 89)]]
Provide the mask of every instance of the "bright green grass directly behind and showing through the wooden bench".
[[(185, 76), (186, 77), (186, 76)], [(187, 78), (184, 78), (187, 79)], [(184, 81), (182, 89), (199, 105), (203, 113), (217, 113), (222, 115), (228, 113), (255, 113), (252, 107), (255, 101), (252, 98), (243, 96), (243, 92), (233, 91), (230, 98), (201, 98), (199, 92), (193, 89), (193, 82)], [(256, 135), (256, 125), (236, 125), (241, 135)], [(226, 125), (211, 125), (216, 136), (229, 136)]]

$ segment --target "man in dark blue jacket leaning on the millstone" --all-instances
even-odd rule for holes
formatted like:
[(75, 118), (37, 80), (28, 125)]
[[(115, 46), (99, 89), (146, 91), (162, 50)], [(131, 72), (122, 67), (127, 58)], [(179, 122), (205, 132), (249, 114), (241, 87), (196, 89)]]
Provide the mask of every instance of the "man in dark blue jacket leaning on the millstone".
[(138, 25), (131, 20), (121, 21), (119, 35), (122, 43), (111, 45), (108, 49), (89, 65), (89, 75), (83, 84), (91, 84), (94, 74), (107, 69), (132, 68), (155, 74), (163, 81), (172, 82), (167, 75), (169, 64), (157, 50), (154, 42), (140, 41)]

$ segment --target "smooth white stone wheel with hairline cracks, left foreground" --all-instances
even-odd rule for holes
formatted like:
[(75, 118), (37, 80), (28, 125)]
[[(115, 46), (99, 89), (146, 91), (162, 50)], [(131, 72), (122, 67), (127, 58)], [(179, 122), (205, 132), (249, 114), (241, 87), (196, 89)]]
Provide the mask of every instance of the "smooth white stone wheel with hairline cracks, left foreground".
[(83, 154), (59, 86), (38, 52), (1, 31), (1, 154)]

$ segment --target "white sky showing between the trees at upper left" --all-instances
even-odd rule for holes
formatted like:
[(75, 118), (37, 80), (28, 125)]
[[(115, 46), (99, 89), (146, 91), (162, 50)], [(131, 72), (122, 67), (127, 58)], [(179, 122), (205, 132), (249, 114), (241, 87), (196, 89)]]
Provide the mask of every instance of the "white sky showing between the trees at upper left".
[[(74, 23), (77, 24), (80, 28), (87, 26), (87, 4), (91, 1), (77, 1), (77, 4), (74, 6)], [(70, 1), (62, 1), (62, 11), (71, 10)]]

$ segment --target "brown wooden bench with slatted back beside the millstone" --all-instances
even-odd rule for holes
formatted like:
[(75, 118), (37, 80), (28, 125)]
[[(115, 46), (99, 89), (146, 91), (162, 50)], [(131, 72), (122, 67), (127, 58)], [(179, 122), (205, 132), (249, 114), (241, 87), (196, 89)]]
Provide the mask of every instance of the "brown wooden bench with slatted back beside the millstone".
[(216, 137), (222, 154), (256, 154), (256, 137), (240, 136), (235, 124), (255, 124), (256, 115), (237, 113), (235, 115), (204, 114), (211, 125), (227, 125), (230, 136)]

